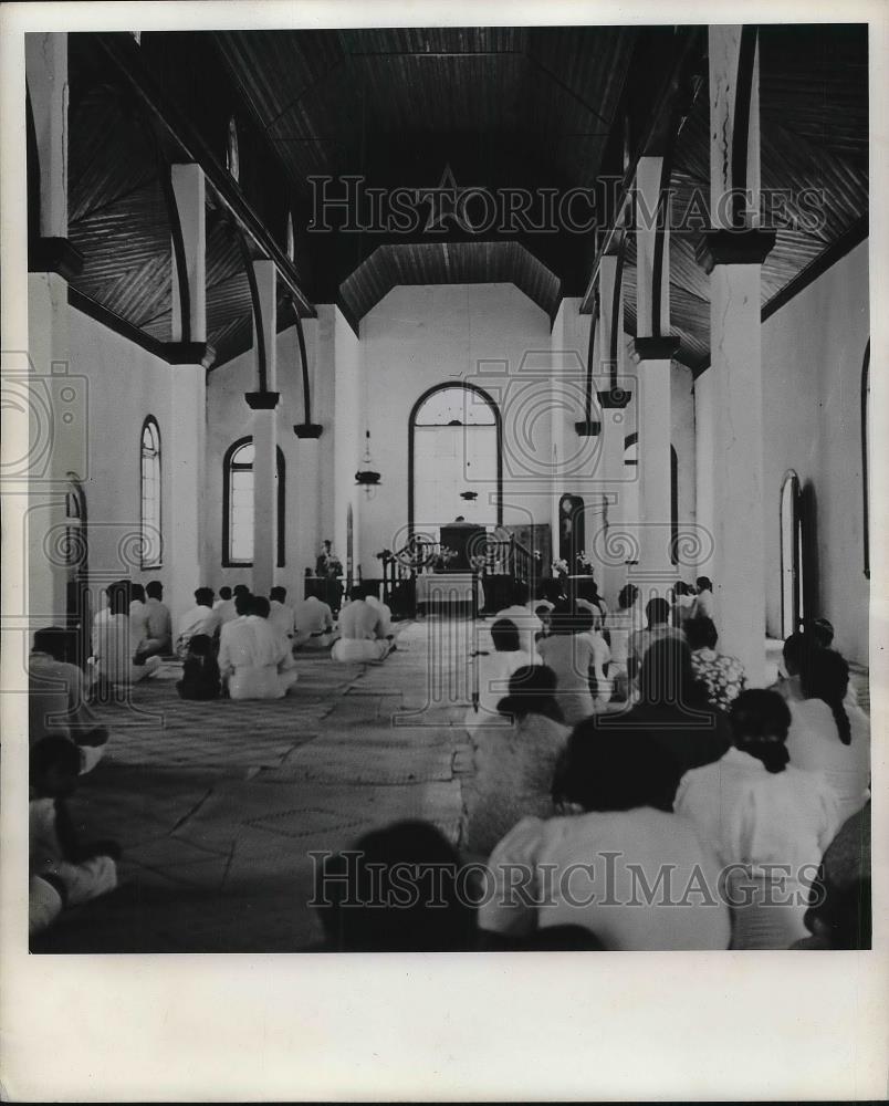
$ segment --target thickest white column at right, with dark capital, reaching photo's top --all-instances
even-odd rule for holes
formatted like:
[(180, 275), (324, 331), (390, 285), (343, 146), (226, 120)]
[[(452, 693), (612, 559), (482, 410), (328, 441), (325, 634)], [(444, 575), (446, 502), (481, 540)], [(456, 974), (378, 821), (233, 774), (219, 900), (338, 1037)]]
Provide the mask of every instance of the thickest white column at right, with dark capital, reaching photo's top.
[[(774, 232), (756, 229), (759, 209), (759, 92), (754, 66), (746, 136), (749, 213), (732, 226), (728, 200), (738, 88), (740, 27), (710, 29), (711, 218), (698, 260), (711, 275), (710, 368), (714, 409), (713, 583), (720, 648), (739, 657), (749, 681), (765, 668), (765, 550), (763, 511), (763, 383), (760, 276)], [(743, 90), (742, 90), (743, 91)]]

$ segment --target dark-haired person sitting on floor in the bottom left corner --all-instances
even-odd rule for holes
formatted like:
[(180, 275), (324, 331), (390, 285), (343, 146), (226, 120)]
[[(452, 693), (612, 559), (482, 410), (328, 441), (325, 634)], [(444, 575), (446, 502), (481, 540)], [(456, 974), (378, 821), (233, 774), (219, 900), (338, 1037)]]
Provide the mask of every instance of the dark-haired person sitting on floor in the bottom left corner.
[(67, 738), (43, 738), (30, 755), (29, 932), (46, 929), (66, 906), (117, 886), (114, 842), (82, 846), (65, 800), (77, 785), (80, 752)]

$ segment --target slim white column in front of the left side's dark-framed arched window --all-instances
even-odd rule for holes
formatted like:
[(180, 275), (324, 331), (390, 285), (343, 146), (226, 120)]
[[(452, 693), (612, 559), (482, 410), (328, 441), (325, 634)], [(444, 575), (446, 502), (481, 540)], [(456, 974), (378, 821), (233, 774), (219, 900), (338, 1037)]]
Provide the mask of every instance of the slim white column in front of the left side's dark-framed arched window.
[[(265, 340), (265, 387), (268, 405), (253, 409), (253, 591), (268, 595), (274, 584), (278, 563), (278, 415), (276, 415), (276, 269), (273, 261), (254, 261), (262, 333)], [(259, 323), (254, 319), (254, 326)], [(259, 348), (259, 335), (253, 348)]]

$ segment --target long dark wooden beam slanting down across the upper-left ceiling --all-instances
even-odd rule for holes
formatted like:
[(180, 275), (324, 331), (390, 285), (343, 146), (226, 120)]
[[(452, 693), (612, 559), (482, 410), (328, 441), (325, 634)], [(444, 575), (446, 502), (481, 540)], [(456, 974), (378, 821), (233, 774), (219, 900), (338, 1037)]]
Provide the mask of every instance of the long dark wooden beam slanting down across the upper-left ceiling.
[(315, 317), (315, 309), (300, 286), (296, 270), (269, 228), (253, 210), (228, 170), (213, 157), (212, 152), (191, 122), (158, 88), (146, 70), (135, 39), (126, 32), (102, 32), (96, 35), (100, 45), (114, 63), (121, 76), (135, 92), (148, 115), (181, 152), (184, 158), (201, 167), (207, 182), (228, 209), (241, 231), (255, 248), (274, 261), (279, 278), (287, 286), (301, 313)]

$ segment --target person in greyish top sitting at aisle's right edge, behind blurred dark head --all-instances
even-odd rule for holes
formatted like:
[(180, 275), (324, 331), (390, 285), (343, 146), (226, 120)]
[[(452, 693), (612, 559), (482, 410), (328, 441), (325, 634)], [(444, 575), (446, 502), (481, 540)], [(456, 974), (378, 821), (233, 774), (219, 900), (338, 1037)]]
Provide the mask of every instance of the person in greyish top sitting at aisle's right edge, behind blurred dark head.
[(509, 695), (498, 703), (511, 724), (473, 734), (475, 772), (463, 781), (463, 842), (470, 853), (489, 856), (526, 815), (553, 815), (553, 773), (568, 738), (555, 690), (552, 668), (516, 669)]

